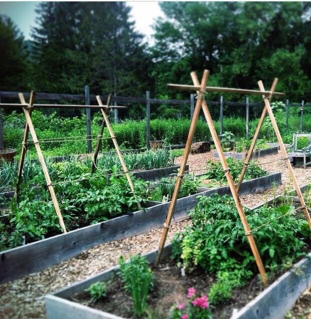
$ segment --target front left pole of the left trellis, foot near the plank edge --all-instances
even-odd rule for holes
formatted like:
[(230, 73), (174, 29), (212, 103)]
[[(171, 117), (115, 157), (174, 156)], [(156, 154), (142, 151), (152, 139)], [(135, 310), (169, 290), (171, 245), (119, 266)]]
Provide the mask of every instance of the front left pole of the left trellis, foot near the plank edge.
[[(31, 91), (31, 93), (32, 93), (32, 96), (33, 96), (33, 92), (32, 91)], [(21, 102), (24, 103), (23, 94), (22, 93), (18, 93), (18, 96), (19, 96), (19, 99), (21, 100)], [(30, 97), (31, 97), (31, 95), (30, 95)], [(29, 105), (31, 105), (31, 104), (29, 103)], [(36, 152), (38, 154), (39, 162), (41, 164), (42, 171), (43, 171), (43, 174), (44, 174), (44, 177), (45, 177), (45, 180), (46, 180), (46, 185), (47, 185), (47, 188), (48, 188), (49, 193), (51, 195), (52, 202), (54, 204), (56, 214), (58, 216), (58, 221), (59, 221), (60, 227), (62, 228), (63, 232), (67, 232), (66, 231), (66, 227), (65, 227), (64, 222), (63, 222), (63, 219), (62, 219), (62, 215), (61, 215), (59, 206), (58, 206), (58, 201), (57, 201), (57, 198), (56, 198), (56, 195), (55, 195), (55, 192), (54, 192), (54, 188), (53, 188), (53, 185), (52, 185), (51, 180), (49, 178), (48, 170), (47, 170), (47, 167), (46, 167), (46, 164), (45, 164), (45, 161), (44, 161), (44, 157), (43, 157), (40, 145), (39, 145), (39, 141), (38, 141), (38, 138), (37, 138), (36, 133), (35, 133), (35, 129), (34, 129), (33, 124), (32, 124), (31, 115), (30, 115), (31, 108), (25, 108), (24, 107), (23, 111), (24, 111), (24, 114), (25, 114), (25, 117), (26, 117), (26, 122), (28, 124), (28, 129), (29, 129), (29, 131), (31, 133), (31, 136), (32, 136), (34, 147), (35, 147)]]

